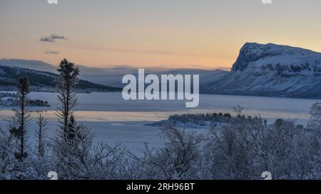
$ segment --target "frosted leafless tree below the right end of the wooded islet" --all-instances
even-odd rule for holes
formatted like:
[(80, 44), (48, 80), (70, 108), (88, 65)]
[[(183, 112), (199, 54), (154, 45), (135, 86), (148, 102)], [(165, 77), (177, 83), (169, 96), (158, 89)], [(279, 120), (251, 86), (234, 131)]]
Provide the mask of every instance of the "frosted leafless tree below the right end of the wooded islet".
[(212, 178), (251, 179), (257, 173), (253, 158), (257, 155), (255, 144), (263, 130), (263, 119), (243, 117), (241, 111), (236, 113), (237, 117), (230, 119), (221, 130), (214, 126), (210, 129), (205, 147), (208, 151), (203, 157), (208, 160)]

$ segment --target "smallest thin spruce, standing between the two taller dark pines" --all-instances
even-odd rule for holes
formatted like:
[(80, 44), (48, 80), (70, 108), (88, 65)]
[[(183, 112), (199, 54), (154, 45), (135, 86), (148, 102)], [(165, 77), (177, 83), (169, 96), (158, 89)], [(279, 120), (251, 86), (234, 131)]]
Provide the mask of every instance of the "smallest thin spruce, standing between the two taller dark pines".
[(45, 153), (45, 144), (46, 144), (46, 125), (48, 124), (47, 120), (39, 115), (38, 121), (38, 130), (36, 131), (36, 140), (38, 143), (38, 154), (41, 157), (44, 157)]

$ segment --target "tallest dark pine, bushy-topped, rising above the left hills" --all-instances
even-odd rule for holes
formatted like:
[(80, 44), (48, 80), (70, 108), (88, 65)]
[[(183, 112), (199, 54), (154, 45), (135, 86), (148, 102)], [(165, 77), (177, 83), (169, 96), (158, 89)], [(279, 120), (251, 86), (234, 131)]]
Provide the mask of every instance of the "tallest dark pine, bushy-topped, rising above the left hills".
[(68, 141), (70, 138), (68, 123), (70, 122), (73, 111), (78, 104), (76, 97), (76, 85), (78, 84), (79, 69), (74, 63), (69, 63), (63, 59), (58, 68), (59, 78), (57, 80), (58, 102), (61, 102), (61, 107), (58, 108), (56, 115), (58, 122), (61, 124), (63, 131), (63, 139)]

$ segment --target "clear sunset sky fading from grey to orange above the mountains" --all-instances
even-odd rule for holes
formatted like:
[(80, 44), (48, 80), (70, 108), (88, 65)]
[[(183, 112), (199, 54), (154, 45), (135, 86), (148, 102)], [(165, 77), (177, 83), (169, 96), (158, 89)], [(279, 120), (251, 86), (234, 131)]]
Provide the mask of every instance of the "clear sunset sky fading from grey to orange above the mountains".
[(0, 58), (230, 68), (246, 42), (321, 52), (321, 0), (0, 0)]

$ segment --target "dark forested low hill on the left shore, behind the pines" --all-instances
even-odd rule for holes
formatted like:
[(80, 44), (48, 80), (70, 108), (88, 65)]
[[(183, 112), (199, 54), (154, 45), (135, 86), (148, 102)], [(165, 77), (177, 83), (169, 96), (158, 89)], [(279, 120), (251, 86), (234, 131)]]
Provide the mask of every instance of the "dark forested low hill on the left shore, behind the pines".
[[(29, 77), (33, 91), (55, 91), (57, 74), (27, 68), (9, 68), (6, 66), (0, 66), (0, 90), (16, 90), (16, 82), (24, 75)], [(121, 88), (79, 80), (78, 90), (80, 92), (116, 92), (121, 91)]]

